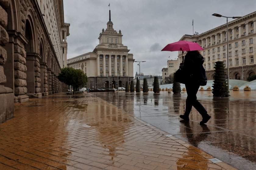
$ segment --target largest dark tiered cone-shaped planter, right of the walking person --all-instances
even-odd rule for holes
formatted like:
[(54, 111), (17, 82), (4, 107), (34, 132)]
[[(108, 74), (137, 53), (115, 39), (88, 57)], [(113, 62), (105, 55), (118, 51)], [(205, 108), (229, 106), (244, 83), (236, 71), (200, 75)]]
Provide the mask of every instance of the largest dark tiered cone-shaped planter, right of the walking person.
[(227, 74), (224, 70), (225, 66), (223, 61), (215, 62), (213, 74), (213, 96), (227, 97), (229, 94), (229, 88), (227, 86)]

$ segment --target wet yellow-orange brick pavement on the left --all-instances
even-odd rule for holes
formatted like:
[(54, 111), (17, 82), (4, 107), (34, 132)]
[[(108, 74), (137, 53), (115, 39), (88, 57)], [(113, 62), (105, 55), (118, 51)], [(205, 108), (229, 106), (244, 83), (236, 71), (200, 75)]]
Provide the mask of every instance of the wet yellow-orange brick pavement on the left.
[(16, 103), (0, 124), (0, 169), (235, 169), (94, 95)]

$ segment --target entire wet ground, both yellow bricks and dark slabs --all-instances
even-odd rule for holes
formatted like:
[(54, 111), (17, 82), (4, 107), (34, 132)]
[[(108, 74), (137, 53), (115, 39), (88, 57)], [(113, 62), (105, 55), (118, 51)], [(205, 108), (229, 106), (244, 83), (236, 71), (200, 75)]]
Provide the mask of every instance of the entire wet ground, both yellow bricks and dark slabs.
[(212, 116), (205, 126), (194, 109), (180, 121), (186, 96), (62, 93), (16, 103), (0, 124), (0, 169), (255, 169), (256, 92), (198, 92)]

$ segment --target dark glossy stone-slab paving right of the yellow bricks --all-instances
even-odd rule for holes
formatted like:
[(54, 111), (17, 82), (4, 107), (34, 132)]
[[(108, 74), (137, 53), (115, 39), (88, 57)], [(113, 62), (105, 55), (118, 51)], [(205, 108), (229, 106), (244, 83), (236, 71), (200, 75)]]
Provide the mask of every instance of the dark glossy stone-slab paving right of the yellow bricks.
[(199, 125), (202, 118), (194, 108), (189, 123), (180, 121), (186, 92), (117, 92), (108, 98), (104, 93), (93, 95), (238, 169), (256, 169), (256, 91), (231, 90), (230, 94), (230, 97), (213, 97), (211, 91), (197, 93), (197, 99), (212, 116), (205, 126)]

